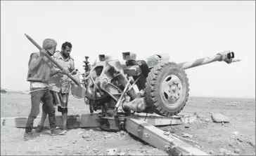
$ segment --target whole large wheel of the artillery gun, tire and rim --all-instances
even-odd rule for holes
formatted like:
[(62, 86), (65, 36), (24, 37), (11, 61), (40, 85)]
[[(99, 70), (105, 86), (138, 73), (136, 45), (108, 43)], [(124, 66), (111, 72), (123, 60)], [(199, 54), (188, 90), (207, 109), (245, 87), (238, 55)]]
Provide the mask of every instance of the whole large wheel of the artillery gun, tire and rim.
[(157, 64), (146, 79), (146, 101), (158, 115), (177, 115), (188, 101), (186, 73), (173, 62)]

